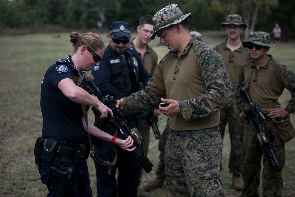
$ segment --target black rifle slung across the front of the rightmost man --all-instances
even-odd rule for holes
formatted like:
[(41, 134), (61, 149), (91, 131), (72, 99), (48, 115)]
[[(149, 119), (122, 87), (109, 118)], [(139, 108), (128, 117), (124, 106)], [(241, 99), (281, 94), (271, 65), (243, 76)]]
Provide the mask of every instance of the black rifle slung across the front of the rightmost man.
[(270, 161), (271, 166), (273, 167), (273, 169), (280, 168), (278, 160), (276, 159), (276, 155), (272, 150), (272, 141), (275, 134), (271, 129), (268, 129), (267, 131), (267, 129), (263, 125), (262, 120), (265, 120), (265, 117), (261, 113), (261, 108), (259, 107), (259, 105), (252, 102), (247, 90), (243, 91), (243, 97), (249, 104), (249, 110), (243, 109), (244, 113), (247, 115), (247, 123), (249, 124), (250, 117), (257, 130), (258, 141), (260, 142), (263, 151)]

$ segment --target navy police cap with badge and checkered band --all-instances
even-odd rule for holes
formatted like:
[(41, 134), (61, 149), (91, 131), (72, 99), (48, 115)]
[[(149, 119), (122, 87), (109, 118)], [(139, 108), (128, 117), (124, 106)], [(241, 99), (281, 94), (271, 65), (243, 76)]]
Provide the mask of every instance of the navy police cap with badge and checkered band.
[(130, 25), (127, 22), (121, 20), (112, 22), (109, 27), (109, 34), (112, 34), (114, 38), (130, 38)]

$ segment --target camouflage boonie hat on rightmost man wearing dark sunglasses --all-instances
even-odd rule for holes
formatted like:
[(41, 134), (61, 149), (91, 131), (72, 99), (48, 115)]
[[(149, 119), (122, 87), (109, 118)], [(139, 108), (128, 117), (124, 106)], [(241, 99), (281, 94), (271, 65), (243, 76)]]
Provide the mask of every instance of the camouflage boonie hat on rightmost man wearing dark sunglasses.
[(266, 32), (251, 32), (249, 39), (243, 41), (243, 46), (246, 47), (247, 43), (254, 43), (255, 45), (261, 45), (273, 48), (275, 45), (271, 44), (271, 35)]

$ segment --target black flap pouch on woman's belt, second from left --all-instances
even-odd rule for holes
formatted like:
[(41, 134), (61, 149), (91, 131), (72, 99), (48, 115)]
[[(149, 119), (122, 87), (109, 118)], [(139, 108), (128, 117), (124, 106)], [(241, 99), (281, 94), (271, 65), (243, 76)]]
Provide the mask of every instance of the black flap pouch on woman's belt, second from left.
[(46, 162), (51, 162), (54, 155), (56, 147), (58, 146), (58, 141), (51, 139), (51, 138), (45, 138), (43, 143), (43, 151), (42, 151), (42, 160)]

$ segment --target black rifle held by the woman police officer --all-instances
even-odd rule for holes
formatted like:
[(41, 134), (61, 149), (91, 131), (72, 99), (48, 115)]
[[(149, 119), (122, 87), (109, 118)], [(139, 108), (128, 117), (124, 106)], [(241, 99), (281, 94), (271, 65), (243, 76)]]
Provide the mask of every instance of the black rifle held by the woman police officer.
[[(152, 171), (152, 167), (154, 167), (154, 165), (152, 164), (152, 162), (150, 162), (146, 154), (140, 148), (140, 140), (142, 139), (142, 137), (137, 128), (131, 129), (128, 126), (127, 121), (123, 117), (122, 111), (119, 108), (116, 108), (116, 100), (111, 95), (107, 94), (105, 97), (103, 97), (99, 89), (92, 81), (84, 81), (85, 74), (86, 72), (81, 73), (78, 79), (77, 86), (82, 87), (91, 95), (94, 94), (104, 105), (108, 106), (112, 110), (114, 117), (112, 117), (110, 113), (108, 113), (106, 117), (109, 125), (116, 130), (116, 135), (120, 139), (126, 140), (128, 136), (132, 137), (135, 143), (130, 148), (132, 149), (134, 146), (136, 146), (137, 148), (130, 152), (130, 154), (132, 154), (132, 156), (139, 162), (145, 172), (148, 173)], [(98, 118), (101, 116), (101, 113), (97, 109), (93, 110), (93, 113)]]

